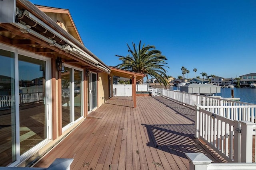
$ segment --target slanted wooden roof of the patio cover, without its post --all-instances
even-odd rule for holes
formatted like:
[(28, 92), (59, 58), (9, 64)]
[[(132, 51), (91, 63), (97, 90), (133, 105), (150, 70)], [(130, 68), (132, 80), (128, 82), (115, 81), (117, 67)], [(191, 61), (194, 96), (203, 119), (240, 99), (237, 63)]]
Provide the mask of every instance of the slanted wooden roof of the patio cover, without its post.
[(108, 67), (110, 68), (111, 73), (113, 75), (119, 76), (119, 77), (130, 78), (130, 79), (132, 79), (133, 77), (136, 77), (137, 80), (140, 80), (140, 79), (142, 79), (142, 78), (144, 78), (146, 76), (143, 73), (123, 70), (123, 69), (112, 67), (112, 66), (108, 66)]

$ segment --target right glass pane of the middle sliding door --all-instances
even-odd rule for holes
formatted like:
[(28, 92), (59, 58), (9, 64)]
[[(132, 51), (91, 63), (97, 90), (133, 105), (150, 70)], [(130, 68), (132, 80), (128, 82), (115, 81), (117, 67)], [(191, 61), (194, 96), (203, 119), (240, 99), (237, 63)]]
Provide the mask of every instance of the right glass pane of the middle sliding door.
[(75, 107), (75, 121), (81, 117), (82, 114), (82, 71), (74, 70), (74, 107)]

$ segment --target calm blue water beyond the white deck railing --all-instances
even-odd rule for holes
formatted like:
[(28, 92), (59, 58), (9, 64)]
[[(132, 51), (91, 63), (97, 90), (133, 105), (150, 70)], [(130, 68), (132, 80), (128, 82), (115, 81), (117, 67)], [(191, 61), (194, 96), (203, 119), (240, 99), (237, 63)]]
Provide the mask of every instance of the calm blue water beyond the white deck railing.
[[(214, 96), (231, 98), (231, 89), (234, 89), (234, 97), (240, 98), (241, 102), (256, 104), (256, 88), (220, 88), (221, 92)], [(173, 90), (177, 90), (177, 87), (173, 87)]]

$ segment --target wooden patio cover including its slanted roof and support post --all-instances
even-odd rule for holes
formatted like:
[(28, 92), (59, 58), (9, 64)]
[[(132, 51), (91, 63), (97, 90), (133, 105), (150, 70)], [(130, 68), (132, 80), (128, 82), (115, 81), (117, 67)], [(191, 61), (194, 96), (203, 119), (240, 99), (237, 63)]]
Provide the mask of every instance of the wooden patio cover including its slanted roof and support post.
[(146, 75), (143, 73), (122, 70), (120, 68), (116, 68), (112, 66), (108, 66), (108, 67), (110, 68), (111, 73), (114, 76), (132, 79), (132, 99), (133, 99), (134, 107), (136, 107), (136, 80), (140, 80), (144, 78)]

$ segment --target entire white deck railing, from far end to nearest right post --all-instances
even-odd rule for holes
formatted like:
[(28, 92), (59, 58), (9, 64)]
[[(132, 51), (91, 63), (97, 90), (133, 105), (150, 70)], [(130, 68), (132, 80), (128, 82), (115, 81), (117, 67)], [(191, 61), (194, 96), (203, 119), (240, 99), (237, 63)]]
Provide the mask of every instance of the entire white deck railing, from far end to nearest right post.
[(252, 162), (252, 145), (256, 147), (256, 143), (252, 144), (256, 129), (255, 104), (165, 89), (152, 89), (152, 96), (159, 96), (161, 92), (168, 99), (196, 106), (196, 138), (230, 162)]

